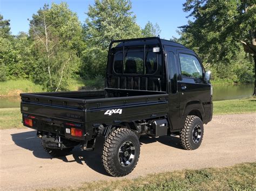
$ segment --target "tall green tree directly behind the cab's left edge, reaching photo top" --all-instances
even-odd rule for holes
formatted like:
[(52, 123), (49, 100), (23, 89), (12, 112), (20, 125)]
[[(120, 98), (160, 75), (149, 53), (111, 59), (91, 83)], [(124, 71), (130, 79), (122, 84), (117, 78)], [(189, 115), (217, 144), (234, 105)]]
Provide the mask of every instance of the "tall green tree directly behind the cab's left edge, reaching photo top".
[(129, 0), (96, 0), (89, 6), (84, 24), (86, 50), (83, 52), (84, 77), (105, 75), (107, 50), (115, 39), (142, 37)]

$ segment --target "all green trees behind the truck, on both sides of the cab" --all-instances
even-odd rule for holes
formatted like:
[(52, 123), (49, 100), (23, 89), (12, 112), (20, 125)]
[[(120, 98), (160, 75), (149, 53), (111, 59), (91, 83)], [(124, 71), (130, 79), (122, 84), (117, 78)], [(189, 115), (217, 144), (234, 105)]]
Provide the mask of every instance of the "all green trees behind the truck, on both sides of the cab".
[[(29, 32), (17, 36), (0, 15), (0, 81), (29, 79), (58, 91), (71, 78), (101, 80), (111, 40), (160, 33), (151, 22), (140, 28), (131, 6), (130, 0), (96, 0), (81, 23), (66, 3), (44, 5), (32, 15)], [(173, 40), (196, 51), (214, 80), (252, 83), (253, 57), (240, 40), (255, 42), (255, 9), (255, 1), (187, 0), (184, 11), (193, 19)]]

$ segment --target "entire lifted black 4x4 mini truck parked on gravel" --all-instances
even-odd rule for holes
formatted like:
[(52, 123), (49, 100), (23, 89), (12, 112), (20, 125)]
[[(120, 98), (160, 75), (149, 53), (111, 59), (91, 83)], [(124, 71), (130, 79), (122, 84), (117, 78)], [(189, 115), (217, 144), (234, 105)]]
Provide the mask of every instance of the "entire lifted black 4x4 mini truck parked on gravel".
[[(52, 156), (102, 144), (112, 176), (132, 172), (140, 135), (176, 134), (184, 149), (200, 146), (212, 119), (211, 72), (185, 46), (158, 37), (114, 40), (100, 91), (21, 93), (23, 124), (37, 130)], [(153, 151), (152, 151), (153, 152)]]

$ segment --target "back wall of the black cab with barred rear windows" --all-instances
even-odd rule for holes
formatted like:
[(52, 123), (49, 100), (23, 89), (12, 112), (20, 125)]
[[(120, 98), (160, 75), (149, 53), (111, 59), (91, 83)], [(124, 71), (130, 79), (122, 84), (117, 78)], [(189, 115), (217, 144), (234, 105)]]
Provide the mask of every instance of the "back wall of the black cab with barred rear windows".
[(159, 44), (119, 44), (111, 49), (108, 88), (165, 91), (163, 52), (153, 52)]

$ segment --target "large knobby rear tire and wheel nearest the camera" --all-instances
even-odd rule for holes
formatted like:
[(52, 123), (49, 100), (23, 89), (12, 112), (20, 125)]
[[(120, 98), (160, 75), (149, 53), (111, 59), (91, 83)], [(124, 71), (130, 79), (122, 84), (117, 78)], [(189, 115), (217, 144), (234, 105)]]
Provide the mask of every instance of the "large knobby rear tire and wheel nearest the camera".
[(103, 166), (112, 176), (125, 176), (137, 165), (140, 144), (130, 129), (118, 128), (105, 140), (102, 153)]

